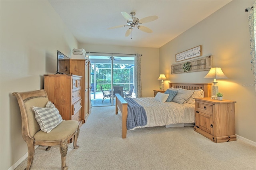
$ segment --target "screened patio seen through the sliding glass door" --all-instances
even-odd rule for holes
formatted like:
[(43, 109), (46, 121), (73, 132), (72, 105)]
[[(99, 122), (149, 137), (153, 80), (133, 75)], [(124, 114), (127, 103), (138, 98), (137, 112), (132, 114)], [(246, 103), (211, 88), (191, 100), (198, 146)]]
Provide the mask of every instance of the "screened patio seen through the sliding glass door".
[[(107, 54), (89, 53), (92, 107), (115, 105), (116, 86), (122, 95), (134, 87), (135, 55)], [(134, 92), (135, 89), (132, 97), (135, 97)]]

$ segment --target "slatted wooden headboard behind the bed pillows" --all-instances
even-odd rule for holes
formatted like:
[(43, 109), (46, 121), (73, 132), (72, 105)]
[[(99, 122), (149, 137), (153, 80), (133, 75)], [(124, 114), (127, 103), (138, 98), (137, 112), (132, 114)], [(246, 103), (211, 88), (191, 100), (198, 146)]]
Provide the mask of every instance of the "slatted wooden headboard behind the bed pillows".
[(211, 86), (212, 83), (169, 83), (169, 88), (182, 88), (187, 90), (198, 90), (204, 91), (204, 97), (211, 97)]

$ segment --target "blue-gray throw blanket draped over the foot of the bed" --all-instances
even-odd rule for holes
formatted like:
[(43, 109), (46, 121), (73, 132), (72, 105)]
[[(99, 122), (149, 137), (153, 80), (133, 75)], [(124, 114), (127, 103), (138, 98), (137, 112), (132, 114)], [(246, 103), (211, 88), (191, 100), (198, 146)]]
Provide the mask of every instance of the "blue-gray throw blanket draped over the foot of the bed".
[(132, 98), (125, 98), (128, 103), (127, 129), (133, 129), (138, 126), (145, 126), (148, 122), (145, 109)]

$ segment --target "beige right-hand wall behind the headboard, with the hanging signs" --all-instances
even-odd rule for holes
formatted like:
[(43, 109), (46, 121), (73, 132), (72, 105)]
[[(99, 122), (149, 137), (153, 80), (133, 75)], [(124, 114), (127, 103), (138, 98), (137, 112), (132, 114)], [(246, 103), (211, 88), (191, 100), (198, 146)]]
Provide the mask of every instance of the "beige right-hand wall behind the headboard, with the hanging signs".
[(228, 79), (218, 80), (219, 92), (235, 104), (236, 134), (256, 142), (256, 93), (251, 71), (248, 13), (254, 1), (232, 1), (182, 35), (160, 47), (160, 72), (171, 82), (210, 83), (208, 71), (170, 74), (175, 54), (202, 45), (202, 56), (213, 55)]

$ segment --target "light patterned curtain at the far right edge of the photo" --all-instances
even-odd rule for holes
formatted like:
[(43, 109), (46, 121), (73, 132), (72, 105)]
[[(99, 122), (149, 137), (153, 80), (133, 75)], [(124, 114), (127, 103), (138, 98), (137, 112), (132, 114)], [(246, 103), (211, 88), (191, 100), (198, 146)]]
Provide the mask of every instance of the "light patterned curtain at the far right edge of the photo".
[(254, 87), (256, 92), (256, 52), (255, 52), (255, 36), (256, 36), (256, 2), (253, 4), (253, 8), (247, 8), (249, 14), (249, 30), (250, 30), (250, 42), (251, 42), (251, 63), (252, 72), (254, 75)]

